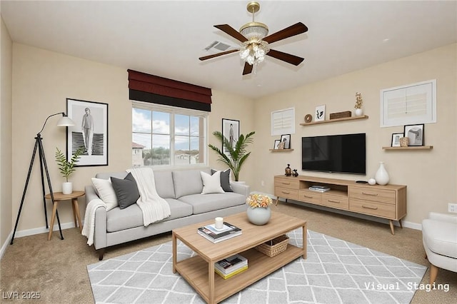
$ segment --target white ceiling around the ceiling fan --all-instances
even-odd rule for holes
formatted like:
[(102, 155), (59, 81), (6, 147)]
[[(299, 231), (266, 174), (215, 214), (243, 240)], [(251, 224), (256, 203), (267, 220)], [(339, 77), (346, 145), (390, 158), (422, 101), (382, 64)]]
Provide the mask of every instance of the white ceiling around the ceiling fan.
[(305, 60), (267, 56), (242, 76), (237, 53), (199, 61), (214, 28), (251, 21), (243, 1), (4, 1), (11, 39), (92, 61), (257, 98), (457, 42), (457, 1), (259, 1), (273, 34), (301, 21), (308, 32), (270, 44)]

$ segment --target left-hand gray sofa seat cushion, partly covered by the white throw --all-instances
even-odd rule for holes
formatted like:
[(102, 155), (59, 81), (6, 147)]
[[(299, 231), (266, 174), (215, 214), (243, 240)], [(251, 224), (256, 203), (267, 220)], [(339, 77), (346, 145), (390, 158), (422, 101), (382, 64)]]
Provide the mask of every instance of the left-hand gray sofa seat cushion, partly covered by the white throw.
[[(171, 215), (163, 221), (192, 215), (192, 206), (189, 204), (175, 200), (174, 198), (166, 198), (165, 200), (169, 203)], [(154, 225), (154, 223), (151, 225)], [(140, 226), (144, 226), (143, 213), (136, 203), (122, 210), (116, 207), (106, 213), (106, 230), (108, 232), (116, 232)]]

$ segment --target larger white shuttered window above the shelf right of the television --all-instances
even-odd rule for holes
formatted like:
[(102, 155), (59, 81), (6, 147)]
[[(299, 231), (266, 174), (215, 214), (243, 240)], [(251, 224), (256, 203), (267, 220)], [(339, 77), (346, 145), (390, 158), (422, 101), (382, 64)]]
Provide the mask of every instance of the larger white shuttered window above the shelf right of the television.
[(436, 123), (436, 79), (380, 91), (381, 128)]

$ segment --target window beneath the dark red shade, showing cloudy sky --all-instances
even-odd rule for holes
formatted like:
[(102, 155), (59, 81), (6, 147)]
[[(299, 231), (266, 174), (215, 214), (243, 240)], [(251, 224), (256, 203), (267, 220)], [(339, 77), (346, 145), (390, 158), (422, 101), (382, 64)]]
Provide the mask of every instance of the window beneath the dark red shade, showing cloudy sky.
[(132, 166), (206, 165), (205, 111), (133, 102)]

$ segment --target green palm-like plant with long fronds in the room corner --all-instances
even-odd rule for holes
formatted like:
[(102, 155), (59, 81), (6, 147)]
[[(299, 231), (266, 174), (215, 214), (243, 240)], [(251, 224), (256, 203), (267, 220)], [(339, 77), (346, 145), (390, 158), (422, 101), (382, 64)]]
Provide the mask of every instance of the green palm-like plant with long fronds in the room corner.
[(221, 151), (221, 149), (217, 148), (216, 146), (211, 144), (208, 146), (218, 154), (218, 161), (225, 163), (231, 169), (233, 176), (235, 177), (235, 181), (238, 181), (241, 166), (243, 165), (244, 161), (246, 161), (246, 158), (248, 158), (248, 156), (251, 154), (251, 152), (246, 151), (246, 148), (248, 148), (249, 143), (253, 143), (253, 138), (251, 136), (253, 136), (255, 133), (256, 132), (253, 131), (246, 134), (246, 136), (241, 134), (238, 138), (238, 141), (236, 141), (235, 146), (232, 146), (229, 139), (226, 138), (221, 132), (213, 132), (213, 135), (216, 136), (219, 141), (221, 141), (221, 143), (223, 143), (223, 146), (227, 149), (229, 156), (227, 156), (223, 151)]

